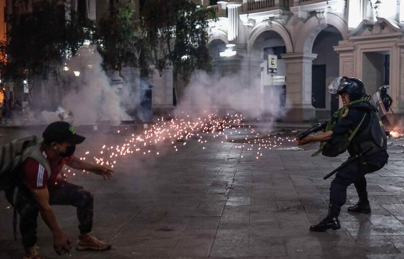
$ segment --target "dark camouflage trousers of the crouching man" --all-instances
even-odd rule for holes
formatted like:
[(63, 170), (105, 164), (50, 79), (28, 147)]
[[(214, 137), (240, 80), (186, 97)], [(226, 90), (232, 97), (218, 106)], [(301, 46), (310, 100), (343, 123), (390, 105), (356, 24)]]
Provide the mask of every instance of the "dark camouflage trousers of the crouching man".
[[(49, 204), (72, 205), (77, 208), (80, 233), (91, 232), (93, 218), (93, 196), (81, 186), (58, 180), (58, 184), (48, 186)], [(13, 204), (14, 188), (6, 192), (7, 200)], [(20, 187), (16, 196), (15, 208), (20, 215), (20, 232), (24, 247), (36, 243), (38, 206), (31, 192)]]

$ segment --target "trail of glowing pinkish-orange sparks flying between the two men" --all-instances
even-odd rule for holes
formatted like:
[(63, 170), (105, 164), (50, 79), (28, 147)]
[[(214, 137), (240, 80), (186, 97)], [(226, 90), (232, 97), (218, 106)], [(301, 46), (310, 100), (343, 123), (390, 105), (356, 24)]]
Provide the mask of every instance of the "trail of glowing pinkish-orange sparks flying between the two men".
[[(215, 139), (223, 137), (221, 143), (224, 141), (240, 143), (235, 148), (243, 149), (246, 147), (246, 151), (256, 152), (254, 156), (256, 159), (259, 159), (263, 155), (264, 150), (277, 148), (285, 141), (293, 141), (288, 138), (283, 139), (277, 136), (260, 135), (254, 128), (243, 122), (245, 118), (242, 114), (227, 114), (224, 117), (218, 116), (217, 113), (208, 114), (205, 112), (205, 114), (205, 116), (195, 118), (189, 115), (181, 118), (175, 116), (171, 119), (161, 117), (149, 130), (144, 131), (143, 134), (138, 136), (132, 134), (131, 138), (126, 139), (121, 145), (104, 144), (100, 151), (93, 155), (92, 158), (96, 164), (114, 168), (119, 157), (136, 153), (141, 155), (160, 155), (161, 152), (158, 148), (153, 152), (151, 150), (163, 143), (170, 143), (173, 152), (177, 152), (181, 147), (186, 146), (189, 140), (197, 139), (197, 144), (201, 145), (201, 148), (205, 150), (208, 142), (206, 137), (211, 135)], [(226, 130), (229, 130), (227, 134), (225, 134)], [(120, 133), (120, 131), (117, 133)], [(232, 138), (241, 134), (245, 134), (246, 137), (243, 139)], [(87, 156), (89, 155), (90, 152), (86, 151), (85, 155), (80, 157), (80, 160), (88, 160)], [(240, 157), (243, 158), (242, 155)], [(67, 177), (67, 173), (73, 176), (77, 174), (74, 170), (65, 168), (63, 176)], [(86, 171), (83, 170), (82, 173), (84, 174)]]

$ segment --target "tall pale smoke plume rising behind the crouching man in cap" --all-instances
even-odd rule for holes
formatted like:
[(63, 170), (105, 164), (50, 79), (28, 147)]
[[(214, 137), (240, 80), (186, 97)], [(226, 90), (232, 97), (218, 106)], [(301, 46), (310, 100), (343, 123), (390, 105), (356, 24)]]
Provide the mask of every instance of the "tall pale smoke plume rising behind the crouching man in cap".
[[(56, 112), (41, 112), (42, 121), (49, 123), (64, 119), (75, 124), (89, 124), (98, 121), (111, 121), (119, 124), (129, 116), (121, 107), (117, 91), (111, 87), (110, 78), (102, 68), (102, 57), (92, 46), (80, 48), (68, 64), (66, 90), (61, 106)], [(67, 114), (71, 111), (73, 116)]]

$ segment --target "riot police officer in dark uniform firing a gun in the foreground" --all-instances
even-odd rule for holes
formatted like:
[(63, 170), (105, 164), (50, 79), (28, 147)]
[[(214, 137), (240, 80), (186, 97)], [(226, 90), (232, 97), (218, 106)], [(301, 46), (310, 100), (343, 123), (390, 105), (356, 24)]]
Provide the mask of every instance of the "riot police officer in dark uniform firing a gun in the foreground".
[(337, 156), (346, 149), (350, 156), (368, 151), (337, 172), (331, 182), (328, 215), (311, 226), (311, 231), (341, 228), (338, 215), (346, 202), (346, 188), (351, 184), (356, 187), (359, 201), (348, 207), (348, 211), (370, 214), (365, 175), (381, 169), (388, 159), (386, 134), (376, 107), (369, 103), (363, 82), (355, 77), (338, 77), (328, 89), (331, 94), (340, 95), (343, 107), (333, 114), (324, 133), (297, 140), (298, 145), (321, 142), (316, 154), (327, 156)]

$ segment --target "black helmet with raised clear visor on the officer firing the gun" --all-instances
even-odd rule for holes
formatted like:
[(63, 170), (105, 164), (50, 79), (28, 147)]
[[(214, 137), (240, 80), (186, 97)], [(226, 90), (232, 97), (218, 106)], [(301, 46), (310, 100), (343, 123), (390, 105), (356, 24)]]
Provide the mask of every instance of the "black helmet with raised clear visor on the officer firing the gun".
[(328, 86), (331, 94), (342, 95), (348, 93), (351, 101), (359, 100), (366, 96), (365, 85), (356, 77), (338, 77), (335, 78)]

